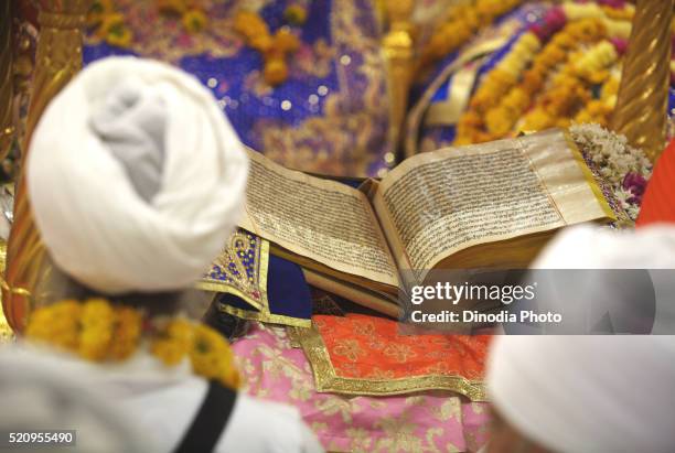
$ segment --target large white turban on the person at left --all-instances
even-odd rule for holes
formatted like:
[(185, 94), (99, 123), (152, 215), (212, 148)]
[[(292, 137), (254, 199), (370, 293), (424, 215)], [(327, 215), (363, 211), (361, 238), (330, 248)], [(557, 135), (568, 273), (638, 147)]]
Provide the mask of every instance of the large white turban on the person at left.
[(49, 105), (28, 188), (56, 265), (105, 292), (194, 282), (243, 205), (248, 159), (211, 93), (169, 65), (113, 57)]

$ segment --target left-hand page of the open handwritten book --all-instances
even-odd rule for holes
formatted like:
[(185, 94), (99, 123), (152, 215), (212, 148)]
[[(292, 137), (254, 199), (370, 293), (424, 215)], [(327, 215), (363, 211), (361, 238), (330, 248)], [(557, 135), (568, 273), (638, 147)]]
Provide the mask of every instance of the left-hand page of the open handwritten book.
[(249, 151), (246, 216), (239, 226), (338, 271), (398, 284), (394, 259), (365, 195)]

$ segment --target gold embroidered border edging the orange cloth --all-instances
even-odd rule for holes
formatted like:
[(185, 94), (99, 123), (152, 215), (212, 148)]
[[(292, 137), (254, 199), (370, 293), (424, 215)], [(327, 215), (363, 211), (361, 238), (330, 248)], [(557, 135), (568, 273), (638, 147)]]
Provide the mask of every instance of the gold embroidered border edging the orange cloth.
[(460, 376), (426, 375), (398, 379), (345, 378), (335, 374), (323, 338), (315, 328), (289, 327), (292, 342), (300, 344), (312, 366), (318, 392), (367, 395), (374, 397), (427, 390), (450, 390), (471, 401), (488, 401), (483, 381)]

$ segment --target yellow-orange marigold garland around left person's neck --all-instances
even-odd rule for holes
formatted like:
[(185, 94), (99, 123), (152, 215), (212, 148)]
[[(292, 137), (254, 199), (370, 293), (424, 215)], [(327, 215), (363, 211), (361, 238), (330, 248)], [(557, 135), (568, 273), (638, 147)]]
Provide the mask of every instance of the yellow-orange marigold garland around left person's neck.
[(169, 367), (189, 358), (199, 376), (233, 389), (242, 384), (229, 344), (218, 332), (182, 317), (149, 319), (106, 299), (39, 308), (29, 317), (25, 338), (95, 363), (124, 362), (147, 347)]

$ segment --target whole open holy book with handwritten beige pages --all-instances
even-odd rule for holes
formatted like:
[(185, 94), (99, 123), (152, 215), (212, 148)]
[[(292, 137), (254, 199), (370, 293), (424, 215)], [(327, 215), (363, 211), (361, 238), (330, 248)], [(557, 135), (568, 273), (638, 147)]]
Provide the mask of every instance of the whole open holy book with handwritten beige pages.
[(358, 190), (250, 152), (239, 226), (308, 281), (397, 316), (401, 272), (522, 269), (560, 227), (613, 214), (580, 152), (553, 129), (418, 154)]

